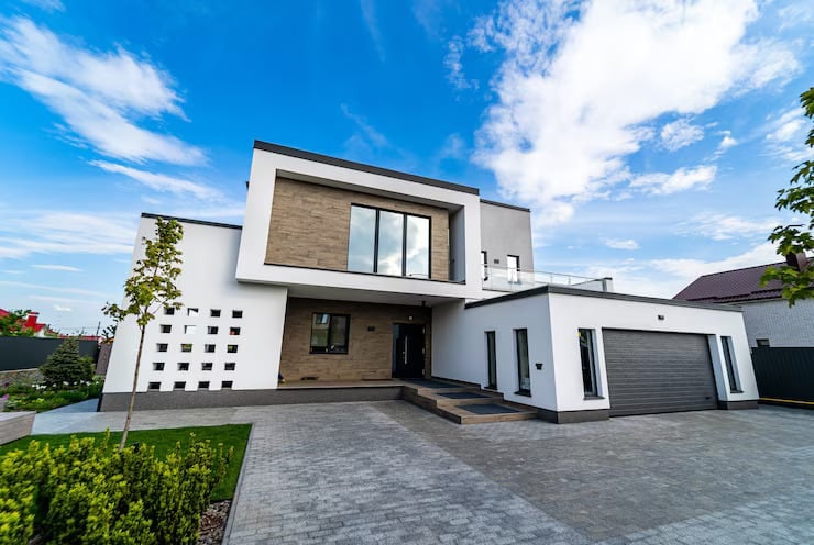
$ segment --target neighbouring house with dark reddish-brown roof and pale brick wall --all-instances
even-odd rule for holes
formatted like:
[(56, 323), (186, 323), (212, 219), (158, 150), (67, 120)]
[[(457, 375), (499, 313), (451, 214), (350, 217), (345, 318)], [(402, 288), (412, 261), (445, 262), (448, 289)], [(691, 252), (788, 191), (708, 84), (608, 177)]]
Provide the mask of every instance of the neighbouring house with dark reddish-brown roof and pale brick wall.
[(802, 269), (807, 263), (804, 255), (791, 255), (787, 263), (704, 275), (673, 299), (737, 304), (744, 311), (749, 346), (814, 346), (814, 300), (799, 301), (794, 307), (789, 307), (781, 296), (779, 280), (760, 285), (760, 277), (769, 267), (789, 265)]

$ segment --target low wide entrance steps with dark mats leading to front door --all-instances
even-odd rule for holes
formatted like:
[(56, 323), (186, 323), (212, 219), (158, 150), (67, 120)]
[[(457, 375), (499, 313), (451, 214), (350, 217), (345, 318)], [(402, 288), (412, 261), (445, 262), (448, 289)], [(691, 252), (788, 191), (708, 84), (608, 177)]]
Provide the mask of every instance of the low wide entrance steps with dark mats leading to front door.
[(441, 380), (405, 382), (404, 399), (457, 424), (536, 419), (537, 410), (512, 403), (503, 394)]

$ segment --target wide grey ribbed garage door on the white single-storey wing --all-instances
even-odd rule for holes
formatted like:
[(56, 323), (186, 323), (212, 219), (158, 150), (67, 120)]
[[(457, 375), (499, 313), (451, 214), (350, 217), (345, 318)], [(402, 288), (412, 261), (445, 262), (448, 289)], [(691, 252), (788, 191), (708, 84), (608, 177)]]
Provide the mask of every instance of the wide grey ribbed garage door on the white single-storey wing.
[(705, 335), (603, 330), (610, 415), (717, 408)]

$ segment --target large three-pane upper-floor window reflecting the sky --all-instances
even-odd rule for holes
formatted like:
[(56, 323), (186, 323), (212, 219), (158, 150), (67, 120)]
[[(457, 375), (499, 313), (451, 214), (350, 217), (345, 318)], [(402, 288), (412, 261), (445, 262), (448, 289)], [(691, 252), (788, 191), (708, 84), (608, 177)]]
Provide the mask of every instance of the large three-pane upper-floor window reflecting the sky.
[(351, 207), (348, 270), (430, 277), (430, 219)]

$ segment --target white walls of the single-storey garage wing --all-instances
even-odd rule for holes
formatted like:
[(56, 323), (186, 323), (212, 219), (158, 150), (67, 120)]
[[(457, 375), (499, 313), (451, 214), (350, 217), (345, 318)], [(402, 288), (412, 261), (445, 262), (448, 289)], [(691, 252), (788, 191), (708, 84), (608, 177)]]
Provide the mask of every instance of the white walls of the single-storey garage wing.
[[(664, 316), (659, 320), (659, 315)], [(739, 312), (676, 307), (658, 302), (573, 294), (539, 294), (464, 309), (446, 304), (433, 309), (433, 375), (486, 385), (484, 332), (495, 331), (497, 388), (506, 399), (556, 411), (609, 408), (603, 329), (696, 333), (711, 340), (718, 398), (726, 401), (758, 398), (751, 356)], [(531, 397), (518, 389), (514, 347), (515, 329), (528, 329)], [(600, 396), (585, 399), (576, 331), (596, 332), (596, 375)], [(743, 393), (732, 393), (723, 365), (719, 336), (730, 336)], [(542, 369), (536, 363), (542, 363)]]

